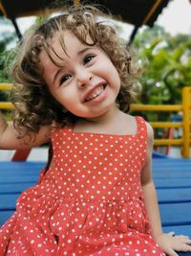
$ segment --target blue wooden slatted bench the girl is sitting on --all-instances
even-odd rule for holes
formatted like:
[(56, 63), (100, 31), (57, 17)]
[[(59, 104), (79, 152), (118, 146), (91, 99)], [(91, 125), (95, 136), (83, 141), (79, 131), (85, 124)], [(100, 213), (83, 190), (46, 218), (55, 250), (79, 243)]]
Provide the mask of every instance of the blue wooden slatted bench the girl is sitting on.
[[(11, 217), (16, 199), (35, 184), (45, 165), (45, 162), (0, 162), (0, 225)], [(191, 237), (191, 159), (154, 156), (153, 177), (163, 230)]]

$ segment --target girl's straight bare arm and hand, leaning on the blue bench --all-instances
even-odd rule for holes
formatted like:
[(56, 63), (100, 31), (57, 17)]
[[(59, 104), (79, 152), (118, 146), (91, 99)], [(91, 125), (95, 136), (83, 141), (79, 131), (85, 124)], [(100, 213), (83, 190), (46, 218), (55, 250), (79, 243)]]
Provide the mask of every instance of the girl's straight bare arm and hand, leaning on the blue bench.
[(152, 151), (153, 151), (153, 129), (147, 124), (147, 156), (142, 170), (141, 183), (144, 194), (145, 207), (151, 224), (152, 234), (161, 249), (168, 256), (179, 256), (176, 251), (191, 251), (191, 240), (186, 236), (174, 236), (173, 232), (162, 233), (159, 216), (158, 198), (151, 175)]

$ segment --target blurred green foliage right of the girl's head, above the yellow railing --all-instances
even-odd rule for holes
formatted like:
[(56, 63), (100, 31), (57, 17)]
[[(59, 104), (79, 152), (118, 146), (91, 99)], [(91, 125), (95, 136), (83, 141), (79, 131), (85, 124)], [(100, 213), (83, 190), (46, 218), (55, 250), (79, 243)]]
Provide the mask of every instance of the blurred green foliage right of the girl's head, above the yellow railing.
[(143, 104), (180, 104), (181, 90), (191, 85), (191, 37), (172, 36), (155, 26), (139, 33), (133, 46), (143, 67)]

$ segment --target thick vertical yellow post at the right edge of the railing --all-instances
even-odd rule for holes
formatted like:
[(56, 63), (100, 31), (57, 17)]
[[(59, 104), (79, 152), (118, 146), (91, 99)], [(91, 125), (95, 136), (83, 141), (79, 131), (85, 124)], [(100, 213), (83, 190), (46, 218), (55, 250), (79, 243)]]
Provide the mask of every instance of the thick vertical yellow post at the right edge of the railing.
[(190, 155), (190, 107), (191, 107), (191, 87), (183, 88), (183, 157)]

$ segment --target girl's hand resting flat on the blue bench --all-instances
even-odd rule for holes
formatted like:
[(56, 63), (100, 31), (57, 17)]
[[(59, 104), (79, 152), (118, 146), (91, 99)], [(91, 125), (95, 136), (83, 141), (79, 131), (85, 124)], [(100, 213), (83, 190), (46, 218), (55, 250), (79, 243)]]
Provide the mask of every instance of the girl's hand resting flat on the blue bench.
[(168, 256), (179, 256), (176, 251), (191, 251), (191, 240), (187, 236), (175, 235), (174, 232), (162, 233), (157, 239), (159, 247)]

